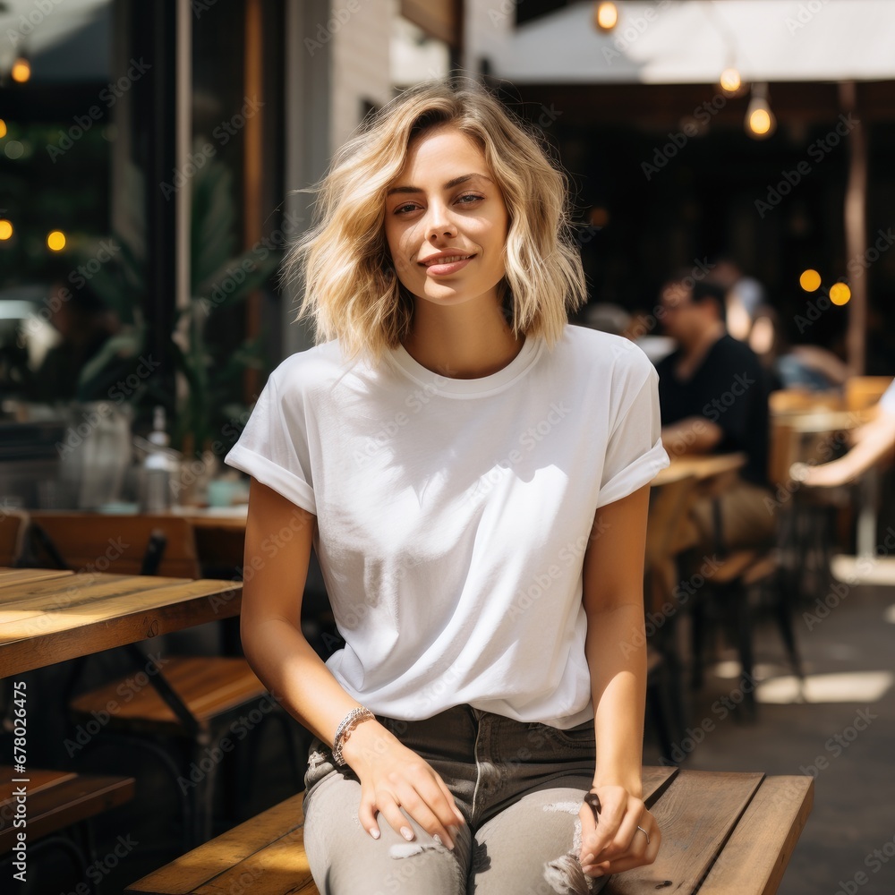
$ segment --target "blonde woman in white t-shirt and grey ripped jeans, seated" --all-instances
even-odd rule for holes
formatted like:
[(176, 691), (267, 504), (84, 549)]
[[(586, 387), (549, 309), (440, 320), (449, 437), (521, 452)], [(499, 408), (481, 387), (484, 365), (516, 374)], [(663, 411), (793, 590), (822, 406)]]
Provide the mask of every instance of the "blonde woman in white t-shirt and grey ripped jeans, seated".
[[(633, 645), (656, 375), (567, 326), (565, 203), (499, 102), (426, 84), (337, 154), (291, 258), (324, 341), (227, 462), (252, 477), (245, 653), (318, 737), (321, 892), (598, 891), (658, 851)], [(345, 638), (326, 665), (299, 624), (311, 543)]]

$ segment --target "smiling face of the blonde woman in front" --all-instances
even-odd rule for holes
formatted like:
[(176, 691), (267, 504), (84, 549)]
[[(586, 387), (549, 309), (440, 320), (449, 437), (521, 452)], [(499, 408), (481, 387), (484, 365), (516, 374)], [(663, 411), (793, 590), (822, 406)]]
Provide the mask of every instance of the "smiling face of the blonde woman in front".
[(497, 301), (509, 214), (482, 149), (454, 128), (424, 134), (388, 189), (385, 233), (398, 279), (439, 305)]

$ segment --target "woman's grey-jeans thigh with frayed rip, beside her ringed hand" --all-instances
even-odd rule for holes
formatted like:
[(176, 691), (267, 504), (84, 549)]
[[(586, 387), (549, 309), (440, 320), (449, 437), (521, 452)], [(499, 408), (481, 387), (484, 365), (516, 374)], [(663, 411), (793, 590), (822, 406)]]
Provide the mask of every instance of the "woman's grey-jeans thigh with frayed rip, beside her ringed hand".
[(474, 895), (590, 895), (606, 880), (586, 877), (578, 862), (578, 811), (591, 785), (584, 777), (569, 786), (527, 794), (475, 833), (468, 891)]

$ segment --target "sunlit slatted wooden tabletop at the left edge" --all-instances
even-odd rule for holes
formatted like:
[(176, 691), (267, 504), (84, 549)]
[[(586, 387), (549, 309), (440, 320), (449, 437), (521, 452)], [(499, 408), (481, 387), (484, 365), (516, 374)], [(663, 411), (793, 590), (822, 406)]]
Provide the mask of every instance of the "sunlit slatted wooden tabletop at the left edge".
[(239, 614), (243, 585), (0, 569), (0, 678)]

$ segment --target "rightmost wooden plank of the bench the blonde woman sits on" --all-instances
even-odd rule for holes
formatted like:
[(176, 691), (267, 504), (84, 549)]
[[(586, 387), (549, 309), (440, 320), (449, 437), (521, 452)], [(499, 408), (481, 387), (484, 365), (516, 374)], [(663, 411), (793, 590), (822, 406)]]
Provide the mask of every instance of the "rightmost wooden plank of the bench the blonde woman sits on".
[(814, 804), (811, 777), (769, 777), (755, 793), (700, 895), (773, 895)]

